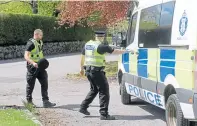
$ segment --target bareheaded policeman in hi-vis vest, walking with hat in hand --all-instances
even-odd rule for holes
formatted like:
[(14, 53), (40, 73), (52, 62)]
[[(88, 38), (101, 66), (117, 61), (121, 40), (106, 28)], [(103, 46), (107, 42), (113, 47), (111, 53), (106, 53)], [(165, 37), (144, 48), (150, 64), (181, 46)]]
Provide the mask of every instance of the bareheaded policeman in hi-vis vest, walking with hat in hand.
[(48, 74), (46, 70), (39, 69), (39, 61), (44, 59), (42, 48), (43, 32), (40, 29), (34, 31), (33, 38), (29, 39), (26, 45), (24, 58), (27, 61), (27, 86), (26, 86), (26, 99), (27, 103), (35, 105), (32, 102), (32, 92), (35, 86), (36, 78), (41, 84), (41, 93), (43, 100), (43, 107), (53, 107), (56, 104), (49, 102), (48, 97)]

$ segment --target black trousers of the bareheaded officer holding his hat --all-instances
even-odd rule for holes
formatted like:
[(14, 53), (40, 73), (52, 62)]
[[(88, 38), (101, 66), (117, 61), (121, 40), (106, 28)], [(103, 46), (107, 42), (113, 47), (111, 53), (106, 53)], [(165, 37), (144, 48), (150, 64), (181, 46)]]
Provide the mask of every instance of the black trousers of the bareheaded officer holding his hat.
[(41, 94), (42, 100), (49, 100), (48, 97), (48, 74), (46, 70), (39, 70), (33, 65), (27, 64), (27, 86), (26, 86), (26, 99), (27, 101), (32, 101), (32, 93), (34, 90), (36, 79), (41, 84)]

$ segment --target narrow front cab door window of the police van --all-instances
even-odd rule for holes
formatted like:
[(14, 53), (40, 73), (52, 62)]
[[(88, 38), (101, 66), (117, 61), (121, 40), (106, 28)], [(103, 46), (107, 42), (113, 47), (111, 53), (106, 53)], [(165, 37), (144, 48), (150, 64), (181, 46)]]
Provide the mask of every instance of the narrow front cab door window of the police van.
[(127, 32), (127, 45), (130, 45), (134, 41), (135, 29), (136, 29), (136, 24), (137, 24), (137, 15), (138, 13), (136, 12), (131, 18), (131, 21), (130, 21), (131, 24)]

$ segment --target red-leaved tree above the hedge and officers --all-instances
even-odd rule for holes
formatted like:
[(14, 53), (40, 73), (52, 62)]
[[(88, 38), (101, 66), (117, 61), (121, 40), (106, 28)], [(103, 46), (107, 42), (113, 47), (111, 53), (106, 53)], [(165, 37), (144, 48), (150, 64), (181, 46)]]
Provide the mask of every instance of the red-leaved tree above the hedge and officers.
[(64, 1), (61, 24), (85, 21), (88, 26), (107, 26), (126, 17), (129, 1)]

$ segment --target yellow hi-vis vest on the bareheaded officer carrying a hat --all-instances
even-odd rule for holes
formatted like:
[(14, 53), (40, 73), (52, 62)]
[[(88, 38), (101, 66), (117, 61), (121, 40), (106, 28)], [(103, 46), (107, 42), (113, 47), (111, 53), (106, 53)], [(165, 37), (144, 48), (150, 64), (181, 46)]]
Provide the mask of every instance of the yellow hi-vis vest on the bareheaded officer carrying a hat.
[(44, 58), (42, 47), (43, 42), (40, 40), (40, 43), (35, 39), (30, 39), (34, 43), (35, 48), (30, 52), (30, 59), (34, 62), (38, 62), (40, 59)]

